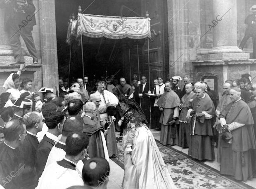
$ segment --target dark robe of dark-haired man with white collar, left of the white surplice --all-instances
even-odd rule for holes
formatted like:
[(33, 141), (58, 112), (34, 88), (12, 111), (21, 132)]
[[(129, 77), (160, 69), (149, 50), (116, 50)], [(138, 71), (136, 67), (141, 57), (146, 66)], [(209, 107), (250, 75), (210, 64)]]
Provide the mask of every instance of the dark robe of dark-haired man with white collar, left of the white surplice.
[(55, 141), (48, 138), (46, 135), (38, 145), (36, 150), (36, 171), (38, 178), (42, 175), (43, 170), (45, 169), (45, 164), (54, 145)]

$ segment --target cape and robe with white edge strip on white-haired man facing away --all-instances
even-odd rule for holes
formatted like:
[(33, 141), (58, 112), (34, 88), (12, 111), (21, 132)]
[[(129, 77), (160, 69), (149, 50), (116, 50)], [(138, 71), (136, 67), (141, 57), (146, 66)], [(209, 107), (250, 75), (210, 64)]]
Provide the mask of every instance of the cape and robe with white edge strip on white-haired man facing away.
[(107, 145), (104, 136), (105, 129), (95, 120), (90, 119), (86, 115), (83, 116), (85, 133), (89, 137), (88, 154), (92, 157), (103, 157), (109, 160), (107, 153)]

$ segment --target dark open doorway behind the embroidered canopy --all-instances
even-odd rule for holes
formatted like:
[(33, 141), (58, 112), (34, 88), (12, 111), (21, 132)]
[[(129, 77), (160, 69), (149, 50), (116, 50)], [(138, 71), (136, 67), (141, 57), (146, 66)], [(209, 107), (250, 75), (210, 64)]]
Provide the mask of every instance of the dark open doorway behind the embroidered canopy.
[[(93, 2), (93, 0), (91, 1)], [(57, 53), (59, 76), (68, 78), (70, 46), (66, 41), (67, 23), (69, 16), (77, 14), (78, 5), (84, 10), (91, 2), (82, 0), (55, 0)], [(107, 16), (140, 16), (140, 2), (135, 0), (96, 0), (84, 12), (86, 14), (97, 14)], [(111, 76), (121, 69), (116, 78), (127, 75), (127, 49), (140, 47), (140, 60), (142, 62), (142, 46), (145, 40), (133, 39), (106, 39), (83, 37), (83, 55), (85, 75), (89, 80), (100, 78), (100, 76)], [(81, 46), (72, 44), (70, 78), (83, 75)], [(133, 66), (134, 67), (134, 66)], [(143, 70), (143, 68), (141, 68)], [(133, 73), (132, 73), (133, 74)], [(71, 79), (70, 79), (71, 80)]]

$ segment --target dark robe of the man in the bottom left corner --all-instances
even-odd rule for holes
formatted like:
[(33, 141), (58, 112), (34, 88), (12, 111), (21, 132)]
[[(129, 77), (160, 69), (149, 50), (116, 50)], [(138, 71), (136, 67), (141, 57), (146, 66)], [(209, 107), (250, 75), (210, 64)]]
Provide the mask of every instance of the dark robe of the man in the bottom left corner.
[(5, 189), (20, 189), (21, 175), (24, 171), (24, 160), (18, 148), (12, 149), (0, 143), (0, 184)]

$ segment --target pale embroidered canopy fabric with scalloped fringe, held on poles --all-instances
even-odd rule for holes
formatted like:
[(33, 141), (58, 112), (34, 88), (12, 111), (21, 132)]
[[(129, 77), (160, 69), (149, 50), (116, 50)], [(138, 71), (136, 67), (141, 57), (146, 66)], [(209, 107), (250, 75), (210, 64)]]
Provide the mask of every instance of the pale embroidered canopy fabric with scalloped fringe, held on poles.
[[(110, 39), (143, 39), (150, 37), (150, 18), (99, 16), (78, 13), (77, 36), (106, 37)], [(69, 27), (72, 35), (74, 24)]]

